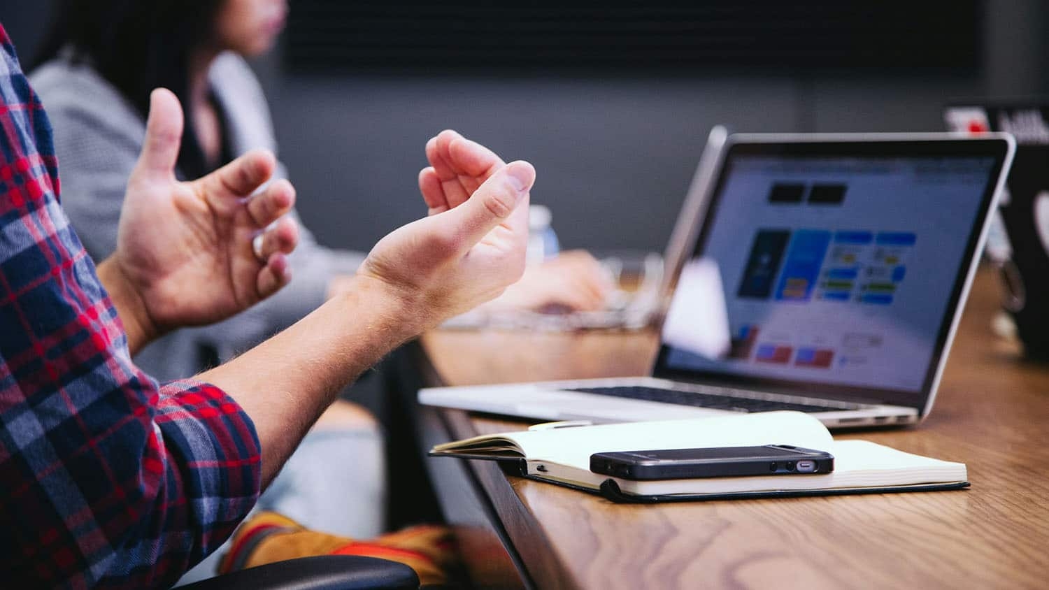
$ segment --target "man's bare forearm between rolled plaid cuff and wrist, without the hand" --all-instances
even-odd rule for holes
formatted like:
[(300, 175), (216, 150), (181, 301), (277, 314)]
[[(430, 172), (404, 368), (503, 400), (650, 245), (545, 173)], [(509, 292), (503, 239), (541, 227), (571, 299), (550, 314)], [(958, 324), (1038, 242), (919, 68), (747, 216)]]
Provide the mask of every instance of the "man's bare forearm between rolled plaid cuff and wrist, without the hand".
[(423, 329), (418, 313), (380, 281), (354, 279), (283, 332), (199, 375), (255, 422), (263, 485), (342, 388)]

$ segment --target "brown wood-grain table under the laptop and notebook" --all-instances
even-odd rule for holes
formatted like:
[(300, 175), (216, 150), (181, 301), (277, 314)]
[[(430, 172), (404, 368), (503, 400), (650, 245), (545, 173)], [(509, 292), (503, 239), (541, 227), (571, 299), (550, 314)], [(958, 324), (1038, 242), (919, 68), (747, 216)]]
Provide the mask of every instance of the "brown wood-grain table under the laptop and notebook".
[[(968, 465), (964, 491), (620, 505), (429, 459), (478, 586), (538, 588), (1049, 587), (1049, 370), (997, 337), (980, 271), (936, 407), (917, 428), (838, 433)], [(448, 385), (644, 374), (652, 333), (433, 332)], [(422, 444), (527, 424), (420, 408)]]

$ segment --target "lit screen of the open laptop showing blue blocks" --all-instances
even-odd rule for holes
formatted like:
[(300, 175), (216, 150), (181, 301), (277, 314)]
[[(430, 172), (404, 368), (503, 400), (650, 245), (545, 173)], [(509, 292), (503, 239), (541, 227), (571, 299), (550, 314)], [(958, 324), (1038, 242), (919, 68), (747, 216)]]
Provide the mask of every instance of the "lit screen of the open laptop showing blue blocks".
[[(711, 357), (664, 337), (657, 376), (924, 405), (999, 143), (731, 146), (691, 261), (716, 264), (731, 347)], [(688, 292), (676, 291), (664, 335), (704, 329), (669, 325), (695, 316), (675, 312)]]

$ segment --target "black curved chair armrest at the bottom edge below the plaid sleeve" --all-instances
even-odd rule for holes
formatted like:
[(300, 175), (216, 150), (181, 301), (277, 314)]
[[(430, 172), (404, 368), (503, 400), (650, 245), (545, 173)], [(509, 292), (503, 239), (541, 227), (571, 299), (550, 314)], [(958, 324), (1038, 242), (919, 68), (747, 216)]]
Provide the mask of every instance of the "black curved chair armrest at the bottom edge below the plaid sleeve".
[(276, 562), (180, 586), (179, 590), (416, 590), (410, 567), (360, 555), (318, 555)]

